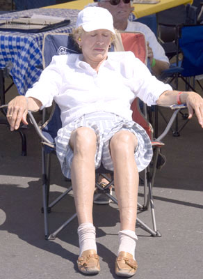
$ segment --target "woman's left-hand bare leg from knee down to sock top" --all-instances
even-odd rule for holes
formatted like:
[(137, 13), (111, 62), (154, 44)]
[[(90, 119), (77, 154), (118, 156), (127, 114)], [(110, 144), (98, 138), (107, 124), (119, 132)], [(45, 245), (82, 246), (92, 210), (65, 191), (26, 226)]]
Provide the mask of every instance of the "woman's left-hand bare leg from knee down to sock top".
[(94, 130), (86, 127), (74, 130), (70, 137), (74, 151), (71, 179), (79, 225), (92, 223), (96, 142)]

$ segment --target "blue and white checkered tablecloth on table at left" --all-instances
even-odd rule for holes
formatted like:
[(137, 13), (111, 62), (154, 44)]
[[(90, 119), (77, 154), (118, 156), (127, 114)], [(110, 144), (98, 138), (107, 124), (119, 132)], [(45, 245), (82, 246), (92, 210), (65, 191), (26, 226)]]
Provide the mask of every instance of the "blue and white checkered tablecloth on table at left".
[(30, 17), (33, 13), (65, 17), (65, 19), (70, 20), (70, 24), (39, 33), (0, 31), (0, 68), (6, 68), (8, 64), (12, 63), (10, 75), (13, 77), (20, 95), (24, 95), (42, 73), (42, 43), (44, 34), (49, 32), (71, 33), (79, 10), (58, 8), (22, 10), (21, 12), (3, 14), (0, 16), (0, 20)]

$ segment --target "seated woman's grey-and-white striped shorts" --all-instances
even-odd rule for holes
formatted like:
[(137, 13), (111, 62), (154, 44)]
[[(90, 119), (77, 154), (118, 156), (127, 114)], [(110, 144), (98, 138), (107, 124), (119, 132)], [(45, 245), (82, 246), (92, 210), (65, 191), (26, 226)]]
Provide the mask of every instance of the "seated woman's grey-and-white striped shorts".
[(71, 178), (70, 169), (73, 159), (73, 151), (70, 147), (70, 136), (72, 131), (79, 127), (88, 127), (95, 131), (97, 136), (97, 151), (95, 153), (95, 169), (101, 163), (108, 170), (113, 171), (113, 162), (109, 151), (111, 137), (120, 130), (129, 130), (136, 135), (138, 146), (135, 151), (135, 160), (138, 172), (141, 172), (152, 159), (152, 144), (145, 130), (135, 123), (120, 116), (107, 112), (94, 112), (81, 116), (76, 121), (58, 130), (55, 139), (56, 153), (60, 161), (63, 174)]

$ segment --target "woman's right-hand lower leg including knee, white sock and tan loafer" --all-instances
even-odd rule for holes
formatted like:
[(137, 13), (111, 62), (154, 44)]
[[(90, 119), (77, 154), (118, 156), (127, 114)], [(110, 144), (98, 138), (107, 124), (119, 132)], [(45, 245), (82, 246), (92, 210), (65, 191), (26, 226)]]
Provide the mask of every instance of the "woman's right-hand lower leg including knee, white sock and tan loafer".
[[(119, 247), (115, 269), (117, 275), (136, 272), (136, 216), (138, 200), (138, 169), (134, 151), (138, 140), (127, 130), (117, 132), (111, 139), (110, 149), (114, 167), (115, 195), (120, 210)], [(128, 258), (130, 266), (125, 261)], [(134, 269), (131, 269), (134, 266)]]

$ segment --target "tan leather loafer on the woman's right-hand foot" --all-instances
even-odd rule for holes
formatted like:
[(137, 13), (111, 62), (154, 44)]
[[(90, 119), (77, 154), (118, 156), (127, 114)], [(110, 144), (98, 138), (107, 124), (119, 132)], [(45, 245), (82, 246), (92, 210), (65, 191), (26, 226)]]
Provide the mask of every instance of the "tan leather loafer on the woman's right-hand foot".
[(131, 277), (136, 273), (137, 269), (136, 260), (128, 252), (120, 252), (115, 259), (115, 273), (117, 276)]

